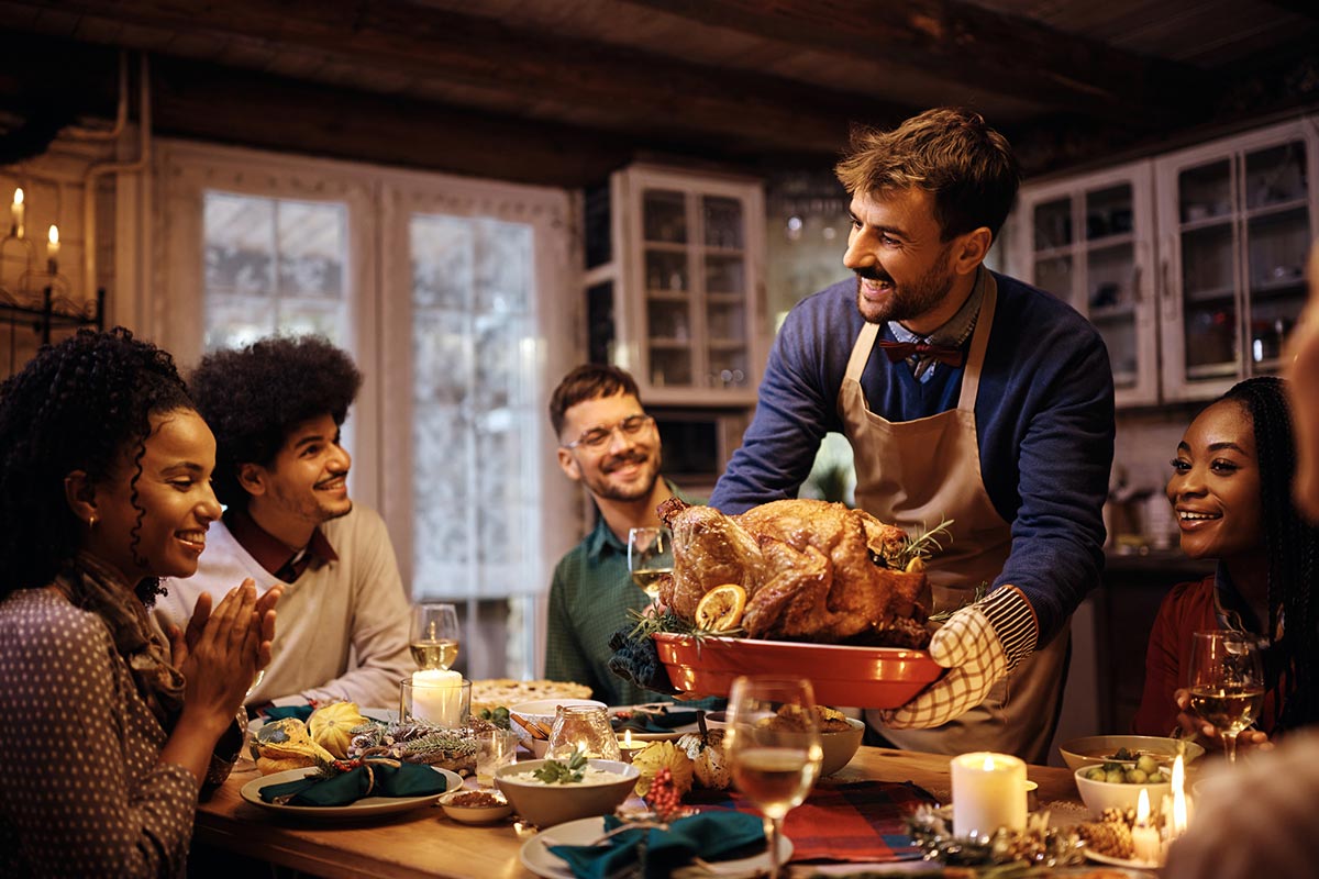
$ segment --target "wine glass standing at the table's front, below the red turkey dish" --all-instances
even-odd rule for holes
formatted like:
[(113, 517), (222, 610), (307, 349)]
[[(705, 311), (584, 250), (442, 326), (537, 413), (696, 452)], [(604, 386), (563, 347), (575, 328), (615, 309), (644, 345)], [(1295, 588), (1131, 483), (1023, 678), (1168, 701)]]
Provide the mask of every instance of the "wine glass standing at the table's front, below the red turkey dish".
[(769, 820), (770, 878), (777, 879), (783, 817), (810, 793), (823, 756), (811, 683), (736, 679), (728, 695), (727, 734), (733, 783)]

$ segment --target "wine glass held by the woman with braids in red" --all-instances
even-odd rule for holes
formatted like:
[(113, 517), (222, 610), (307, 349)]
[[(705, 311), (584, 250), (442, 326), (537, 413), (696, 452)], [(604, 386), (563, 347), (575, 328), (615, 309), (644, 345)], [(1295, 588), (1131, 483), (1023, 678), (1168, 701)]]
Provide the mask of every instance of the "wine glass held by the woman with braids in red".
[(1264, 705), (1258, 638), (1225, 630), (1195, 633), (1187, 685), (1191, 710), (1219, 731), (1228, 763), (1236, 763), (1237, 735)]

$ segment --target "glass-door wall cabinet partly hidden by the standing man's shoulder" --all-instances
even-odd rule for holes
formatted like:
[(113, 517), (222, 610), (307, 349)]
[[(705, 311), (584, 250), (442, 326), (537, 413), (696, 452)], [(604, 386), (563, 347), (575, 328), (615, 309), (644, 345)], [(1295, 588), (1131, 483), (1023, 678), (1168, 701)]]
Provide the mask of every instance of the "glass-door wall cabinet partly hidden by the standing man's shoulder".
[(1153, 165), (1024, 186), (1010, 273), (1083, 314), (1108, 347), (1119, 406), (1158, 401)]

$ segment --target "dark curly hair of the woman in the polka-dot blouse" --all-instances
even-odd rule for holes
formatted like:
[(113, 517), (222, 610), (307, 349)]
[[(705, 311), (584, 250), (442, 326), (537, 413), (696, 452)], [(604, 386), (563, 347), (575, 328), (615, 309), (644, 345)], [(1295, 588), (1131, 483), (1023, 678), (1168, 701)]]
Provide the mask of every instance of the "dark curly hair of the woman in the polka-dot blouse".
[[(174, 358), (123, 327), (82, 329), (0, 385), (0, 594), (45, 586), (78, 551), (86, 525), (69, 507), (65, 477), (111, 478), (128, 456), (137, 509), (132, 550), (146, 514), (137, 505), (150, 416), (193, 409)], [(145, 564), (144, 559), (140, 559)], [(154, 579), (138, 585), (149, 600)]]

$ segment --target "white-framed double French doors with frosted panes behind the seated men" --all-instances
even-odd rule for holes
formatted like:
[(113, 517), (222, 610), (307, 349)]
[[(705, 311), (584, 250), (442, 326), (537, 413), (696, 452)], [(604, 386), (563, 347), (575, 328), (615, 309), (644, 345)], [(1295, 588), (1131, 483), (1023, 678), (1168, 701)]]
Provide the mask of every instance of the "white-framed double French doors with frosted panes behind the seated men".
[(152, 335), (318, 332), (365, 382), (346, 423), (414, 598), (466, 608), (471, 677), (534, 673), (536, 604), (578, 536), (545, 403), (572, 365), (566, 194), (162, 141)]

